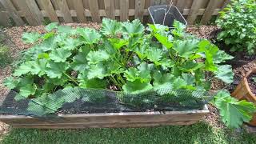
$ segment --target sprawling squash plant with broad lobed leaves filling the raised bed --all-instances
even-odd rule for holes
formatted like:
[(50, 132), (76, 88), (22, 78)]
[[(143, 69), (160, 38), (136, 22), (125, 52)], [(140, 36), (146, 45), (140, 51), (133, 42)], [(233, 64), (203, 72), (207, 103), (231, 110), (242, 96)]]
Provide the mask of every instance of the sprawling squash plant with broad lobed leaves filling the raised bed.
[[(170, 94), (173, 90), (189, 90), (190, 98), (201, 92), (199, 97), (203, 97), (203, 92), (210, 90), (206, 73), (233, 82), (231, 66), (223, 64), (233, 57), (206, 39), (186, 34), (185, 27), (174, 22), (174, 30), (161, 25), (145, 28), (138, 20), (116, 22), (107, 18), (103, 18), (100, 31), (51, 23), (46, 34), (23, 34), (23, 41), (34, 46), (5, 85), (18, 91), (16, 100), (34, 99), (51, 107), (44, 113), (54, 113), (65, 102), (82, 97), (71, 94), (50, 99), (59, 90), (65, 95), (65, 90), (114, 87), (134, 96), (153, 91), (168, 101), (177, 95)], [(238, 102), (226, 91), (217, 94), (214, 104), (230, 127), (249, 122), (255, 110), (254, 104)], [(30, 102), (28, 110), (35, 107)]]

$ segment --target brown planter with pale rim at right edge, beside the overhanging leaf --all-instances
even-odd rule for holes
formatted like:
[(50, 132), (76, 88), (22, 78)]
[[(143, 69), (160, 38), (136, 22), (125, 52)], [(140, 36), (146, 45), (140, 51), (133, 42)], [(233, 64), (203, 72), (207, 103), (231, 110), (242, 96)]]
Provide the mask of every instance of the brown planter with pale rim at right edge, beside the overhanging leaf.
[[(234, 98), (246, 99), (248, 102), (256, 104), (256, 67), (247, 72), (231, 95)], [(256, 114), (249, 124), (256, 126)]]

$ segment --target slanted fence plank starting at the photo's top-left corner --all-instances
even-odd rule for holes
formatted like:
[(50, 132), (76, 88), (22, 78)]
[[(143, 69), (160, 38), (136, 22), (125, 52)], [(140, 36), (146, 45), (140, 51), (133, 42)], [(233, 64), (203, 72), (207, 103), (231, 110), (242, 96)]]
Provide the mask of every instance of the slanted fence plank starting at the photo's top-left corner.
[(22, 26), (25, 24), (22, 18), (19, 17), (18, 11), (14, 8), (14, 5), (9, 0), (0, 0), (0, 2), (2, 3), (2, 6), (4, 6), (8, 11), (10, 17), (13, 18), (16, 25)]

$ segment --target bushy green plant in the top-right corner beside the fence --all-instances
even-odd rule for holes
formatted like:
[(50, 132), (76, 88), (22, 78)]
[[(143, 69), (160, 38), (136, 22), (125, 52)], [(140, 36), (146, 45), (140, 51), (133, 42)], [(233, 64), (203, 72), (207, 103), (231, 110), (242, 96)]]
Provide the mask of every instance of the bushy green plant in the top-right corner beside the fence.
[(229, 45), (230, 51), (256, 53), (255, 0), (231, 0), (216, 22), (222, 28), (218, 40)]

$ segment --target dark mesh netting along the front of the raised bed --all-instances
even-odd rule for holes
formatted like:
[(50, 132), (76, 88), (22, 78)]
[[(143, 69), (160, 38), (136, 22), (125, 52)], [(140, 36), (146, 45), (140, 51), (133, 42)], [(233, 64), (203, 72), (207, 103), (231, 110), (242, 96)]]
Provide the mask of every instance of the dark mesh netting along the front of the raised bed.
[(203, 90), (151, 90), (141, 94), (126, 94), (120, 91), (70, 88), (29, 99), (11, 90), (1, 102), (0, 113), (43, 118), (57, 114), (199, 110), (214, 94)]

